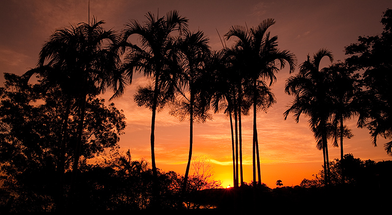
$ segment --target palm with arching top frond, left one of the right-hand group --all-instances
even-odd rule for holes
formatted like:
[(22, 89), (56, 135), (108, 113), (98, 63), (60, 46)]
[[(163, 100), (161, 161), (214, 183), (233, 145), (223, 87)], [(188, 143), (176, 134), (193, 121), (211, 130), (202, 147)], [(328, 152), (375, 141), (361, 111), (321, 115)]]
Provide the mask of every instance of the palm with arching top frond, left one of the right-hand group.
[(284, 112), (285, 120), (289, 113), (294, 113), (298, 123), (299, 116), (304, 113), (309, 117), (309, 126), (312, 129), (317, 148), (323, 151), (325, 185), (329, 182), (329, 159), (327, 138), (329, 132), (329, 119), (333, 113), (334, 98), (331, 91), (332, 78), (325, 68), (319, 70), (320, 61), (328, 57), (333, 61), (331, 51), (320, 49), (313, 58), (299, 66), (299, 73), (286, 81), (285, 92), (294, 95), (291, 107)]

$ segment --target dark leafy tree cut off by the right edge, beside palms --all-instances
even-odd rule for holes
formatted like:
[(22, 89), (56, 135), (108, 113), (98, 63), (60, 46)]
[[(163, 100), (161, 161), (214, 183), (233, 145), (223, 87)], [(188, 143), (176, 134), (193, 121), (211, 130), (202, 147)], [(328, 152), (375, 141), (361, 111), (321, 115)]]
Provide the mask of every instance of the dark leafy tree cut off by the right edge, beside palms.
[[(355, 70), (364, 70), (362, 105), (359, 127), (367, 127), (377, 146), (377, 137), (391, 139), (392, 133), (392, 96), (391, 96), (391, 55), (392, 55), (392, 9), (384, 12), (381, 35), (359, 37), (358, 43), (345, 47), (350, 55), (346, 63)], [(385, 150), (392, 156), (392, 141), (385, 143)]]

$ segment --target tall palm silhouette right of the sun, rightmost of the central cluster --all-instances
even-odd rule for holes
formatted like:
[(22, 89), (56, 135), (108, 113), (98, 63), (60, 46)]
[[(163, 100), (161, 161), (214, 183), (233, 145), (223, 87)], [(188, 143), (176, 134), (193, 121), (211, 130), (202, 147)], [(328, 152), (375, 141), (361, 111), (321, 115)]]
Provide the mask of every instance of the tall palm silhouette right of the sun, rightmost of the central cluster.
[[(267, 33), (268, 28), (274, 24), (273, 19), (262, 21), (257, 27), (247, 29), (243, 26), (232, 26), (225, 35), (226, 39), (236, 37), (235, 46), (241, 50), (244, 63), (242, 71), (246, 77), (246, 84), (249, 91), (252, 91), (253, 105), (253, 183), (256, 185), (256, 156), (258, 179), (261, 183), (260, 156), (257, 138), (256, 112), (261, 103), (258, 103), (258, 97), (261, 92), (259, 86), (265, 86), (265, 81), (270, 80), (270, 86), (276, 81), (274, 75), (279, 69), (282, 69), (286, 63), (290, 65), (290, 72), (294, 71), (296, 60), (294, 54), (288, 50), (279, 50), (277, 48), (277, 36), (270, 37)], [(280, 68), (277, 67), (280, 64)], [(267, 107), (266, 107), (267, 108)], [(255, 186), (256, 187), (256, 186)]]

